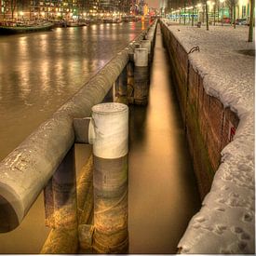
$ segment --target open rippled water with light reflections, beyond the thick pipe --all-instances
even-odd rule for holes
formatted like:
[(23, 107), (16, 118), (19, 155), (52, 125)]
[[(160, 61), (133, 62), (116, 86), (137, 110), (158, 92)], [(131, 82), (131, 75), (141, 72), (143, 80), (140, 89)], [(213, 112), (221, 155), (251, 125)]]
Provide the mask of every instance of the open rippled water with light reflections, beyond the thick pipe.
[(130, 22), (0, 36), (0, 160), (145, 26)]

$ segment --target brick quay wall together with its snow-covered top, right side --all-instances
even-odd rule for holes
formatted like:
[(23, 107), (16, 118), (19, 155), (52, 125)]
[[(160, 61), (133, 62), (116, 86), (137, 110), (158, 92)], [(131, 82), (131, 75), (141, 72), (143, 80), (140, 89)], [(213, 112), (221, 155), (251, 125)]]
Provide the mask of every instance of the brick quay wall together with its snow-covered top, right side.
[(203, 199), (178, 251), (254, 254), (254, 43), (242, 26), (161, 28)]

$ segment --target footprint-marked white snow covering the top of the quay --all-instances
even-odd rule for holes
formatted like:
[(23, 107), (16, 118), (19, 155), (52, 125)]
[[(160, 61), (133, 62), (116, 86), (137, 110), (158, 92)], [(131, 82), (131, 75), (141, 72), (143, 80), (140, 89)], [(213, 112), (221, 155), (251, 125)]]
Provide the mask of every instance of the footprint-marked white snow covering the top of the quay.
[(254, 173), (254, 56), (249, 27), (210, 26), (197, 28), (169, 25), (169, 30), (189, 54), (189, 61), (204, 78), (204, 88), (240, 121), (234, 141), (222, 150), (222, 164), (202, 208), (182, 236), (182, 253), (255, 252)]

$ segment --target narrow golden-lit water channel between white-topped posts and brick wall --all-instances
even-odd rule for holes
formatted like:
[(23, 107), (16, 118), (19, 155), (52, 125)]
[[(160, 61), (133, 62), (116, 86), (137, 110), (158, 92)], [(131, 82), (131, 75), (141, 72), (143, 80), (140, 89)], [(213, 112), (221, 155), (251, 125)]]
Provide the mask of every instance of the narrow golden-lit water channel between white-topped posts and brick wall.
[(129, 253), (176, 253), (200, 199), (157, 28), (150, 99), (131, 107), (129, 127)]

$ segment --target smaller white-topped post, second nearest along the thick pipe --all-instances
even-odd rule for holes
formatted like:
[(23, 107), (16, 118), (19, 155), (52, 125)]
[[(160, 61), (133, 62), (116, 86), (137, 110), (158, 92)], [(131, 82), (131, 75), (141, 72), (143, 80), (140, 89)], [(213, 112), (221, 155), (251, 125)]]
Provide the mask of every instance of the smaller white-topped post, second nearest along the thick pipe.
[(135, 49), (134, 60), (134, 103), (145, 105), (149, 93), (148, 49)]

